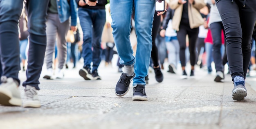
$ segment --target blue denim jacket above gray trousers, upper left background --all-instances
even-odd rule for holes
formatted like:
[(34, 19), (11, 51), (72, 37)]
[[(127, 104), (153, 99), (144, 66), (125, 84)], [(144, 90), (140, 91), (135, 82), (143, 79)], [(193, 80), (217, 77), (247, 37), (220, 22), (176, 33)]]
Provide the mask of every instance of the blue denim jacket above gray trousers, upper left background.
[(71, 26), (76, 26), (77, 4), (75, 0), (56, 0), (58, 8), (58, 16), (62, 22), (68, 20), (71, 16)]

